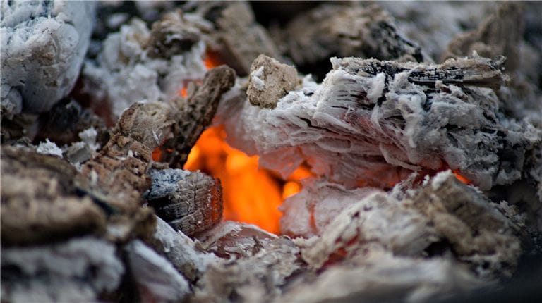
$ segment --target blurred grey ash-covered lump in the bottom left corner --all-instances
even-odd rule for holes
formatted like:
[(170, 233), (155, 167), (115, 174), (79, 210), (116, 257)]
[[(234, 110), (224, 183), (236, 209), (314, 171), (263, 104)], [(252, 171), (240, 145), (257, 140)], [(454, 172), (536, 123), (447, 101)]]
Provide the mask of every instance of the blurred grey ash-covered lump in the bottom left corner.
[(114, 245), (94, 237), (2, 247), (1, 259), (1, 297), (8, 302), (99, 302), (124, 274)]

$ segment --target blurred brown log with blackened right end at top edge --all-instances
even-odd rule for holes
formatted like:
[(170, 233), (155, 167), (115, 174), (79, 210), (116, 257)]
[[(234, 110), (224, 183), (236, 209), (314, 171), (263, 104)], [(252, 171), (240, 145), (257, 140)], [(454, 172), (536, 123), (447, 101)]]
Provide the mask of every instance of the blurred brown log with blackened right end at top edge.
[(331, 56), (430, 61), (376, 5), (323, 4), (294, 18), (275, 41), (284, 45), (297, 66), (322, 63)]

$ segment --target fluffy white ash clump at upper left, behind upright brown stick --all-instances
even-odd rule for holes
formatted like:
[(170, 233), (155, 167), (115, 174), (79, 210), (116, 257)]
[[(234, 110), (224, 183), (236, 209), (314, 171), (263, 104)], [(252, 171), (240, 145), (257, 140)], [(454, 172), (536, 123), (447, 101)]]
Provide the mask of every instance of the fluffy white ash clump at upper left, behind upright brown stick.
[(137, 101), (170, 101), (188, 82), (205, 75), (204, 42), (171, 58), (151, 58), (151, 38), (145, 23), (135, 18), (107, 36), (97, 62), (85, 63), (85, 91), (97, 100), (107, 99), (114, 116)]

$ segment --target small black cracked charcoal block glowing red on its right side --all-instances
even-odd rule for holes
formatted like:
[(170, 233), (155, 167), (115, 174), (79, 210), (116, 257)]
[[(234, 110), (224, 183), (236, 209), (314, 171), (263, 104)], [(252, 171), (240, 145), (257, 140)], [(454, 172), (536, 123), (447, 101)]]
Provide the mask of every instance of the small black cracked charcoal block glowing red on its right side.
[(180, 169), (152, 170), (149, 175), (152, 185), (144, 197), (157, 215), (176, 230), (193, 235), (222, 220), (219, 179)]

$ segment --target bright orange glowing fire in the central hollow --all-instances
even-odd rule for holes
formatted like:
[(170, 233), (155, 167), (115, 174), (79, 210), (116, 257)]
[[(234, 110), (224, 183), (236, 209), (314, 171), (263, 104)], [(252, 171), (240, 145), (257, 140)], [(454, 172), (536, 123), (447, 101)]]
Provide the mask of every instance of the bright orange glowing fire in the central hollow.
[(278, 207), (286, 197), (301, 190), (299, 180), (311, 173), (298, 168), (286, 181), (258, 167), (258, 156), (247, 156), (225, 142), (222, 127), (208, 128), (188, 155), (185, 169), (200, 170), (222, 183), (224, 218), (258, 225), (279, 233)]

